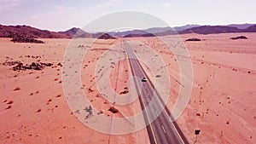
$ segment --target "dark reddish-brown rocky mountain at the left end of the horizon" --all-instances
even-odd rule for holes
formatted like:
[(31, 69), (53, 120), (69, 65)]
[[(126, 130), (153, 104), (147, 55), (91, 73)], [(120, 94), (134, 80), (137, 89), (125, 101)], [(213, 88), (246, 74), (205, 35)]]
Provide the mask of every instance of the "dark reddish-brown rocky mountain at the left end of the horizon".
[(40, 30), (32, 26), (3, 26), (0, 25), (0, 37), (13, 37), (14, 35), (26, 35), (34, 38), (69, 38), (65, 34)]

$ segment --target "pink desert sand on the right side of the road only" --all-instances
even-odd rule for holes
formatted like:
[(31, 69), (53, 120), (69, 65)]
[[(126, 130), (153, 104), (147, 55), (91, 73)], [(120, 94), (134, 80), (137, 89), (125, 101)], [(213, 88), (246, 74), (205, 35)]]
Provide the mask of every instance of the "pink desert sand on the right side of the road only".
[[(245, 35), (248, 40), (231, 40), (230, 37)], [(171, 95), (166, 106), (172, 110), (181, 87), (177, 59), (193, 63), (193, 89), (189, 103), (177, 124), (190, 143), (255, 143), (255, 84), (256, 49), (255, 33), (230, 33), (182, 35), (183, 40), (199, 37), (201, 42), (185, 42), (190, 58), (175, 57), (163, 49), (157, 38), (133, 39), (143, 42), (159, 52), (170, 72)], [(162, 37), (172, 41), (173, 37)], [(141, 47), (141, 48), (140, 48)], [(137, 44), (137, 48), (143, 46)], [(137, 56), (148, 65), (154, 63), (146, 56), (147, 50), (137, 50)], [(149, 54), (150, 52), (148, 52)], [(159, 56), (159, 55), (156, 55)], [(147, 70), (146, 66), (144, 69)], [(150, 70), (148, 70), (150, 71)], [(155, 81), (158, 70), (151, 75)], [(160, 88), (165, 82), (159, 79)], [(195, 130), (201, 130), (195, 139)]]

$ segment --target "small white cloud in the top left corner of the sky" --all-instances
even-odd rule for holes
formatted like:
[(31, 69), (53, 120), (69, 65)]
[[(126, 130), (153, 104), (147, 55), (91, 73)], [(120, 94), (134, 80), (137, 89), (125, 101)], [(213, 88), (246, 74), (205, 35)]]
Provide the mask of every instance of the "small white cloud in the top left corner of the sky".
[(0, 0), (0, 12), (14, 10), (22, 0)]

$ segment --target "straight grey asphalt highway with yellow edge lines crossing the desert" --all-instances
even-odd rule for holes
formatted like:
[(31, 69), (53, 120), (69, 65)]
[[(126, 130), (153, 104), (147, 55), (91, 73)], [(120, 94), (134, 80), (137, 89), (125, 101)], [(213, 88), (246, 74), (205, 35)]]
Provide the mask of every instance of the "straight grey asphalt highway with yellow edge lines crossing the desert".
[[(137, 78), (147, 78), (147, 82), (135, 80), (139, 100), (143, 111), (148, 130), (148, 136), (151, 144), (177, 144), (189, 143), (182, 131), (175, 122), (172, 123), (171, 112), (164, 105), (160, 96), (154, 90), (154, 85), (148, 79), (146, 72), (137, 60), (128, 42), (125, 41), (125, 50), (130, 62), (132, 75)], [(151, 104), (150, 104), (151, 102)], [(158, 116), (158, 117), (157, 117)], [(171, 117), (171, 118), (170, 118)], [(154, 121), (153, 121), (154, 120)], [(151, 124), (148, 122), (153, 121)]]

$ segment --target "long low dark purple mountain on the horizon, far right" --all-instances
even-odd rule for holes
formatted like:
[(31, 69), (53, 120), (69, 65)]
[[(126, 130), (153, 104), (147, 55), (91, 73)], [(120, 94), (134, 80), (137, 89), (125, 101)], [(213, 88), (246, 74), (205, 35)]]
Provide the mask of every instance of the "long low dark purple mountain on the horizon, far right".
[(199, 33), (199, 34), (213, 34), (213, 33), (230, 33), (230, 32), (243, 32), (241, 29), (230, 26), (200, 26), (184, 30), (183, 33)]

